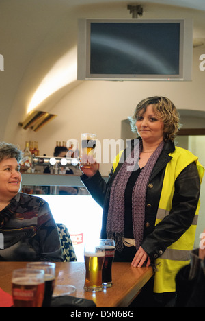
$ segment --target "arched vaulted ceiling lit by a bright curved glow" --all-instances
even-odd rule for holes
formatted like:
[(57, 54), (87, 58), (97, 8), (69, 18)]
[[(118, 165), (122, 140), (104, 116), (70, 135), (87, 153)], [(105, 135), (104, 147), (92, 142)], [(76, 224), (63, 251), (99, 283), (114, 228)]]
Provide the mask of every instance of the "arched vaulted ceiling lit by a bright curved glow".
[[(129, 4), (135, 1), (129, 1)], [(194, 17), (194, 38), (205, 38), (204, 0), (140, 1), (143, 18)], [(130, 18), (125, 1), (0, 1), (0, 139), (31, 108), (49, 111), (77, 82), (77, 20)], [(53, 81), (54, 80), (54, 81)], [(14, 128), (15, 129), (15, 128)]]

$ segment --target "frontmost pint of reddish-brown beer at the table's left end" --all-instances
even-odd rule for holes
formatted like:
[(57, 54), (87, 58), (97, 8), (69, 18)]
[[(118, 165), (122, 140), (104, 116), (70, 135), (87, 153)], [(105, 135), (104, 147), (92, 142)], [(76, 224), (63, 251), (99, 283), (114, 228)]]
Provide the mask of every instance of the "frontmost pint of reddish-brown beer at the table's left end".
[(44, 270), (18, 269), (12, 275), (14, 307), (42, 307)]

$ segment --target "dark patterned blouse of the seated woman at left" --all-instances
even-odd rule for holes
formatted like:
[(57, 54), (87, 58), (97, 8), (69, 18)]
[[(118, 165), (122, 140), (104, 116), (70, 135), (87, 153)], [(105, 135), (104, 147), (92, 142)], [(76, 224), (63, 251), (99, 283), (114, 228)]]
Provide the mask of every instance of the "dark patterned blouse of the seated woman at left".
[(18, 193), (0, 211), (0, 261), (63, 261), (49, 204)]

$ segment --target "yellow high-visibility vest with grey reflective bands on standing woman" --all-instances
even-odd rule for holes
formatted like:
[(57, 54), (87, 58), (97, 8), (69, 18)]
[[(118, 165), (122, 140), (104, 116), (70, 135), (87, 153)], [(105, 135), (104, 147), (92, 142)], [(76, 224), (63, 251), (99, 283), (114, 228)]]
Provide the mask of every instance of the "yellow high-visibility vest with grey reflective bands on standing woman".
[[(122, 152), (115, 158), (113, 169), (115, 171), (118, 166)], [(195, 162), (197, 165), (200, 182), (204, 175), (204, 167), (199, 163), (197, 156), (193, 155), (188, 150), (180, 147), (175, 147), (174, 152), (169, 153), (172, 158), (167, 163), (165, 168), (165, 175), (163, 179), (163, 187), (161, 189), (161, 196), (159, 200), (159, 208), (156, 214), (156, 224), (159, 224), (172, 209), (172, 200), (174, 195), (174, 184), (178, 175), (185, 167)], [(151, 182), (151, 181), (150, 181)], [(156, 272), (154, 276), (154, 292), (174, 292), (175, 277), (182, 266), (189, 264), (190, 252), (193, 249), (195, 240), (195, 230), (197, 226), (197, 217), (200, 209), (200, 200), (197, 204), (195, 217), (191, 226), (187, 231), (164, 252), (159, 250), (159, 258), (155, 260)], [(143, 247), (143, 246), (142, 246)], [(156, 254), (155, 254), (156, 255)], [(158, 257), (158, 255), (156, 255)]]

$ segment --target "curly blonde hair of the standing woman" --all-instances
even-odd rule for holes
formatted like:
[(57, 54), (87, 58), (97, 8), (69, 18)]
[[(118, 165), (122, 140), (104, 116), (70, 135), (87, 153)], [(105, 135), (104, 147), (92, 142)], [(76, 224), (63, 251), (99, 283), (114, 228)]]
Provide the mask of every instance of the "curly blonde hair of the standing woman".
[(134, 115), (132, 117), (128, 117), (131, 123), (131, 130), (133, 132), (137, 132), (137, 117), (141, 111), (146, 111), (148, 105), (152, 105), (156, 117), (159, 117), (159, 119), (164, 123), (164, 140), (174, 141), (176, 133), (181, 127), (180, 115), (171, 100), (166, 97), (154, 96), (141, 100), (135, 108)]

